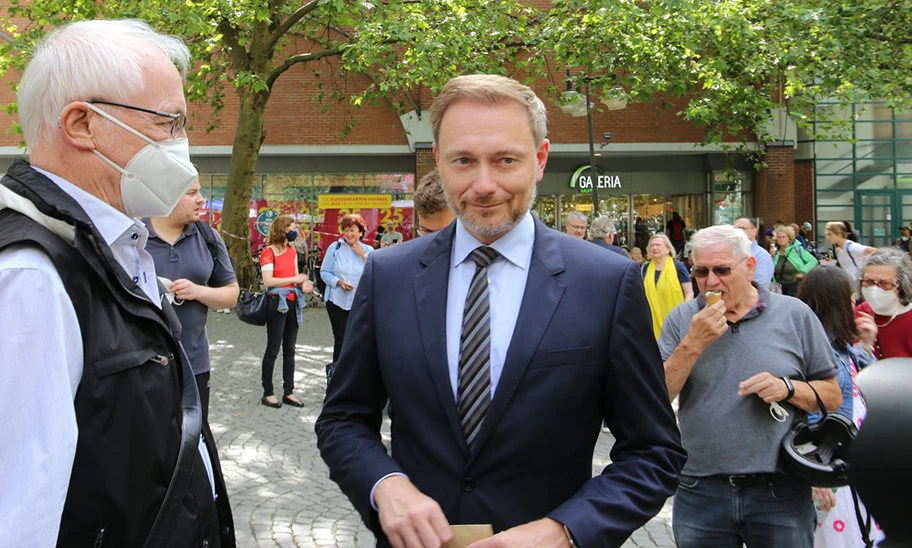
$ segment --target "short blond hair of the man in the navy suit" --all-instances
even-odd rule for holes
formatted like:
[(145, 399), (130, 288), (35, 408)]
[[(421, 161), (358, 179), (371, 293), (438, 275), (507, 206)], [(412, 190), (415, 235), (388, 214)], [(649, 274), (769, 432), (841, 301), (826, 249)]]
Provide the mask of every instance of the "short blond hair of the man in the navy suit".
[(529, 115), (535, 146), (541, 145), (548, 135), (548, 112), (532, 88), (506, 76), (469, 74), (450, 78), (434, 99), (431, 105), (431, 130), (435, 142), (440, 138), (440, 122), (444, 113), (459, 101), (489, 106), (516, 103)]

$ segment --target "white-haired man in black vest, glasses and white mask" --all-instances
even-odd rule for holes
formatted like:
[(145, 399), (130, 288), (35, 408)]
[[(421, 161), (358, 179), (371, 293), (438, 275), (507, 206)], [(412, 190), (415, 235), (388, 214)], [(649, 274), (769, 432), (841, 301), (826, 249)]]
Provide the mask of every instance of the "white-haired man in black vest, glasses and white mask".
[(215, 440), (149, 232), (197, 173), (180, 39), (82, 21), (18, 89), (0, 181), (0, 545), (235, 545)]

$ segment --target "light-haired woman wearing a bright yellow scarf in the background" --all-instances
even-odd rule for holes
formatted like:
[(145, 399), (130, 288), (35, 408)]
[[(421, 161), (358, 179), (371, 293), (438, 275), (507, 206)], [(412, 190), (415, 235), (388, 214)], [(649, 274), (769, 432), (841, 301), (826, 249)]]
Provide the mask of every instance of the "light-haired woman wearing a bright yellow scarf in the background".
[(693, 299), (693, 284), (687, 267), (674, 260), (674, 246), (668, 236), (654, 235), (649, 239), (648, 249), (650, 260), (642, 267), (643, 287), (652, 311), (652, 330), (658, 340), (665, 316), (674, 307)]

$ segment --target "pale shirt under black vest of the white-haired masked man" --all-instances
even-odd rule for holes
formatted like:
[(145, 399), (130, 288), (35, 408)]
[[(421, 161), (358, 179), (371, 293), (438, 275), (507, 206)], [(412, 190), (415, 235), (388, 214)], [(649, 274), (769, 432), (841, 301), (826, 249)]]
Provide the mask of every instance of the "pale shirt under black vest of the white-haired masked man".
[[(79, 203), (118, 264), (161, 308), (142, 222), (36, 171)], [(73, 400), (84, 356), (63, 281), (50, 257), (35, 247), (0, 252), (0, 333), (0, 546), (55, 546), (76, 455)], [(214, 486), (202, 438), (200, 453)]]

